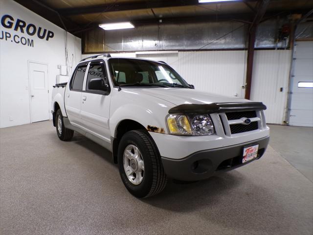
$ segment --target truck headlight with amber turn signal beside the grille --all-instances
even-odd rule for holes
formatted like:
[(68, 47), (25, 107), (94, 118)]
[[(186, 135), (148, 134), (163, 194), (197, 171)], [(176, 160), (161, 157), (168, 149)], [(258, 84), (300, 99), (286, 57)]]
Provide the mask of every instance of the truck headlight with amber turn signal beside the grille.
[(166, 118), (170, 134), (204, 136), (213, 135), (214, 126), (209, 115), (185, 116), (181, 114), (169, 115)]

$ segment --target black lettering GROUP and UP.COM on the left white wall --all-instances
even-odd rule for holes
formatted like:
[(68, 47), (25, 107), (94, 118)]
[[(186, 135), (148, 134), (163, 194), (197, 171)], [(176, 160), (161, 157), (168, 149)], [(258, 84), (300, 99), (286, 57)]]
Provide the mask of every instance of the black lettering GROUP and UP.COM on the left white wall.
[[(21, 32), (29, 36), (37, 36), (39, 39), (49, 41), (54, 37), (54, 33), (42, 27), (37, 27), (35, 24), (27, 24), (20, 19), (14, 19), (10, 15), (3, 15), (1, 17), (1, 26), (8, 29), (13, 29), (16, 32)], [(18, 34), (12, 34), (11, 32), (1, 30), (0, 39), (8, 42), (21, 44), (28, 47), (34, 47), (34, 40), (26, 37), (21, 37)]]

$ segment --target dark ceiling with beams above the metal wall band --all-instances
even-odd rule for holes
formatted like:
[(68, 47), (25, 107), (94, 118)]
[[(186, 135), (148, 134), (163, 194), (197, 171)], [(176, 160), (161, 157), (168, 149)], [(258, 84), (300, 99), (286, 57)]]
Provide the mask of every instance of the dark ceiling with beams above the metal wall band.
[[(99, 23), (131, 21), (135, 25), (207, 21), (250, 23), (258, 12), (257, 0), (198, 3), (198, 0), (15, 0), (54, 24), (80, 36)], [(270, 0), (263, 19), (305, 15), (312, 0)]]

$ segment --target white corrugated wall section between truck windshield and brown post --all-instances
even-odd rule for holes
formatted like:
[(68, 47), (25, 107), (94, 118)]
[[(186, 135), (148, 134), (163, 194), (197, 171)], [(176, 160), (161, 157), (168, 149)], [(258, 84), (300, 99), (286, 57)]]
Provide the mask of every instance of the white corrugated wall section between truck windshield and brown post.
[(246, 51), (179, 52), (178, 71), (196, 89), (244, 97)]

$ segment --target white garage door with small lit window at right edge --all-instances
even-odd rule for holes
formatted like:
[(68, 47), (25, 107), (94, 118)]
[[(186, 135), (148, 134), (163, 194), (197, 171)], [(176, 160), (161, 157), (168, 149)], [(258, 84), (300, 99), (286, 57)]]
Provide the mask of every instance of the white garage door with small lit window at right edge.
[(297, 42), (289, 124), (313, 126), (313, 42)]

